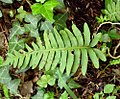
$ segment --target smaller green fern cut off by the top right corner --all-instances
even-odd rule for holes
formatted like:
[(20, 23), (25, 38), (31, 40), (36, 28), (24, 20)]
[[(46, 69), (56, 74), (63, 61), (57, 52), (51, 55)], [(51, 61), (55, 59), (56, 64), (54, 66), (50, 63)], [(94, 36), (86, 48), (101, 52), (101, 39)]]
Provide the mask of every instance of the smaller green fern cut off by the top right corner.
[(105, 9), (102, 10), (102, 13), (107, 16), (110, 21), (118, 22), (120, 21), (120, 0), (110, 0), (106, 2)]

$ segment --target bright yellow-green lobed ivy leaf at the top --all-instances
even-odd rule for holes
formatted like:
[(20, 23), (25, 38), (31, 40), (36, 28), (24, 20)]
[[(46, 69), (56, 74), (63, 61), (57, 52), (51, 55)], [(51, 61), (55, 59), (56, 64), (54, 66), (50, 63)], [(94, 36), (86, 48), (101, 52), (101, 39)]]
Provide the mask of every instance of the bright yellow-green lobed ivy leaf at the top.
[[(41, 3), (35, 3), (31, 6), (33, 15), (41, 14), (43, 17), (53, 22), (53, 8), (59, 4), (56, 0), (49, 0), (43, 5)], [(42, 9), (42, 10), (41, 10)]]

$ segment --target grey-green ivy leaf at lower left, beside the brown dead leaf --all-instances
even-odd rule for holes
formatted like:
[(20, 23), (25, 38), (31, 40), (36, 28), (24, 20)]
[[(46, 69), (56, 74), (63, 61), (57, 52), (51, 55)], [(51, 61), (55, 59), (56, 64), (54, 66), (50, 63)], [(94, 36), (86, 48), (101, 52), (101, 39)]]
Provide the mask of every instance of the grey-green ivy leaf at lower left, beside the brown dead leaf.
[(8, 83), (7, 88), (10, 89), (11, 94), (17, 94), (17, 89), (19, 84), (20, 84), (20, 79), (11, 80)]

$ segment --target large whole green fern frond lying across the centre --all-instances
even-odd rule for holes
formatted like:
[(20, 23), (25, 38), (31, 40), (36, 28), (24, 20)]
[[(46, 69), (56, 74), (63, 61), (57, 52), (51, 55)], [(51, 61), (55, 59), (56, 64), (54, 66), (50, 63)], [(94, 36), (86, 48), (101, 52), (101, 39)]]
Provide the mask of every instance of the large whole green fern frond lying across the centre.
[(32, 43), (32, 47), (26, 44), (27, 51), (14, 50), (14, 53), (8, 53), (8, 63), (20, 69), (34, 69), (39, 66), (39, 69), (45, 68), (48, 71), (59, 67), (61, 73), (66, 72), (67, 75), (75, 73), (81, 64), (82, 74), (85, 75), (89, 55), (94, 67), (99, 68), (99, 58), (106, 61), (106, 57), (99, 49), (93, 47), (101, 38), (101, 33), (95, 35), (90, 42), (87, 23), (84, 24), (83, 35), (74, 24), (72, 30), (73, 33), (66, 28), (60, 32), (55, 28), (53, 32), (45, 31), (44, 44), (38, 37), (36, 43)]

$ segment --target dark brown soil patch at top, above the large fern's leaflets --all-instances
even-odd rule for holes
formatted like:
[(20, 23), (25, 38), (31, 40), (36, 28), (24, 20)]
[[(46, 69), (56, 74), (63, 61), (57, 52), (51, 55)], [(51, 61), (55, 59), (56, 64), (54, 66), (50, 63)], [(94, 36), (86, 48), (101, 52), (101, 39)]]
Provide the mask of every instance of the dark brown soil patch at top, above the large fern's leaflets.
[(96, 30), (96, 17), (104, 8), (103, 0), (64, 0), (64, 2), (70, 13), (70, 19), (67, 21), (68, 28), (73, 21), (81, 31), (85, 22), (88, 23), (92, 33)]

